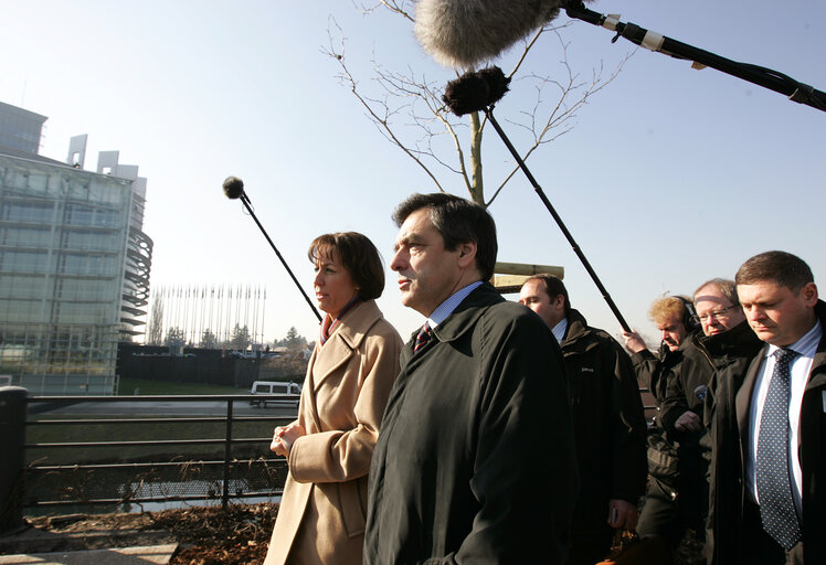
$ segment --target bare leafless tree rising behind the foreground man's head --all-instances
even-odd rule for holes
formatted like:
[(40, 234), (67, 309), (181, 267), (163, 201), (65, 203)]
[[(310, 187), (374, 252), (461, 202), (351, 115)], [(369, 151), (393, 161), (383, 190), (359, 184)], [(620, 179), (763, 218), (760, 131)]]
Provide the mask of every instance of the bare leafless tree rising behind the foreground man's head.
[[(379, 0), (372, 6), (361, 4), (359, 8), (366, 14), (378, 10), (389, 11), (405, 19), (411, 25), (414, 23), (413, 2), (410, 0)], [(519, 56), (507, 73), (509, 78), (520, 83), (520, 87), (527, 84), (534, 92), (532, 107), (506, 119), (507, 122), (527, 131), (532, 140), (521, 153), (526, 161), (537, 149), (569, 132), (573, 128), (578, 111), (591, 96), (602, 90), (618, 75), (631, 56), (626, 55), (607, 77), (603, 77), (604, 71), (600, 65), (592, 71), (590, 79), (584, 79), (568, 63), (569, 43), (562, 34), (562, 30), (568, 25), (570, 22), (547, 24), (539, 29), (532, 38), (523, 41)], [(554, 78), (532, 72), (520, 74), (531, 49), (548, 33), (555, 35), (562, 50), (562, 76)], [(421, 167), (440, 191), (445, 191), (445, 175), (459, 177), (470, 199), (489, 206), (517, 172), (518, 166), (515, 164), (509, 173), (497, 181), (490, 196), (486, 199), (481, 140), (487, 117), (478, 111), (468, 114), (467, 121), (454, 116), (442, 102), (444, 85), (427, 81), (424, 73), (420, 75), (412, 68), (403, 72), (392, 71), (383, 66), (375, 56), (372, 61), (371, 79), (374, 88), (370, 90), (351, 72), (346, 54), (347, 41), (343, 31), (333, 19), (330, 19), (328, 34), (329, 46), (324, 52), (337, 62), (337, 78), (367, 110), (368, 118), (388, 141)], [(555, 97), (549, 93), (555, 93)], [(549, 102), (550, 98), (553, 99)], [(465, 130), (466, 139), (463, 136)], [(448, 146), (454, 151), (446, 150)]]

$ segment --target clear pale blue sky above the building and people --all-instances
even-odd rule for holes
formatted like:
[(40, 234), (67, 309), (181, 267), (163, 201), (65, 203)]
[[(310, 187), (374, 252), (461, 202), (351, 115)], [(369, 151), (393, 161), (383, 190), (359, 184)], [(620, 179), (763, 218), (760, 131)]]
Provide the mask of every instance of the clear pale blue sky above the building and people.
[[(826, 90), (822, 0), (599, 0), (591, 8)], [(87, 169), (102, 150), (140, 167), (155, 287), (266, 285), (267, 340), (290, 326), (311, 340), (314, 315), (241, 204), (223, 196), (224, 178), (244, 180), (308, 294), (306, 249), (316, 235), (362, 232), (389, 262), (392, 209), (434, 190), (336, 81), (338, 66), (322, 52), (330, 18), (364, 88), (373, 56), (434, 84), (455, 76), (422, 52), (409, 22), (382, 10), (363, 15), (346, 0), (0, 0), (0, 100), (49, 116), (42, 154), (64, 160), (70, 137), (88, 134)], [(583, 79), (633, 56), (578, 113), (574, 128), (528, 164), (634, 328), (654, 342), (646, 319), (653, 299), (733, 277), (767, 249), (806, 259), (826, 294), (826, 113), (625, 40), (612, 44), (610, 31), (584, 22), (562, 33)], [(549, 36), (526, 71), (562, 78), (561, 58)], [(508, 70), (512, 60), (509, 53), (498, 63)], [(527, 139), (509, 119), (529, 108), (531, 94), (516, 82), (497, 105), (517, 147)], [(484, 152), (494, 185), (509, 157), (490, 128)], [(442, 179), (466, 195), (458, 178)], [(489, 210), (500, 260), (564, 266), (573, 306), (618, 333), (521, 174)], [(390, 271), (379, 303), (405, 338), (422, 321), (400, 305)]]

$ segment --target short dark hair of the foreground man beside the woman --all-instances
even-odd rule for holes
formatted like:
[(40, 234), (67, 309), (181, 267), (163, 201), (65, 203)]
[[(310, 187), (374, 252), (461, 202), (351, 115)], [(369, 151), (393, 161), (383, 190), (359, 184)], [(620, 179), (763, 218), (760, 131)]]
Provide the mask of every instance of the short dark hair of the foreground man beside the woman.
[(496, 268), (496, 224), (484, 206), (446, 192), (412, 194), (393, 212), (393, 221), (401, 227), (413, 212), (428, 209), (433, 227), (445, 242), (445, 249), (454, 250), (464, 243), (476, 243), (476, 268), (483, 280), (494, 276)]

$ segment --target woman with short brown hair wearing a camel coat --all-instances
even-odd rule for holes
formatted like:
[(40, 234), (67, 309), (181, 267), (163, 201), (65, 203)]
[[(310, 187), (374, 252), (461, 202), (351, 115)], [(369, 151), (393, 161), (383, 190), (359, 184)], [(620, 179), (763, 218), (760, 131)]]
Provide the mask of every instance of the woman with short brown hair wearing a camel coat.
[(360, 564), (367, 473), (402, 340), (374, 299), (384, 288), (375, 246), (353, 232), (316, 238), (308, 253), (320, 310), (298, 418), (271, 449), (289, 476), (265, 565)]

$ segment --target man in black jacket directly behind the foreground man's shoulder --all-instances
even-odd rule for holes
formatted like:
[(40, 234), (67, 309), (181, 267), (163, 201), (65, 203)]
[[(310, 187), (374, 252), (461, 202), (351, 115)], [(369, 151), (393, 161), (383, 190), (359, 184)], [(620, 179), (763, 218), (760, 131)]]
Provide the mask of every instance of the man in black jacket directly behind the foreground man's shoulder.
[(607, 554), (614, 530), (636, 527), (647, 475), (639, 386), (628, 354), (571, 308), (562, 280), (530, 277), (519, 301), (562, 348), (581, 481), (568, 563), (593, 565)]

